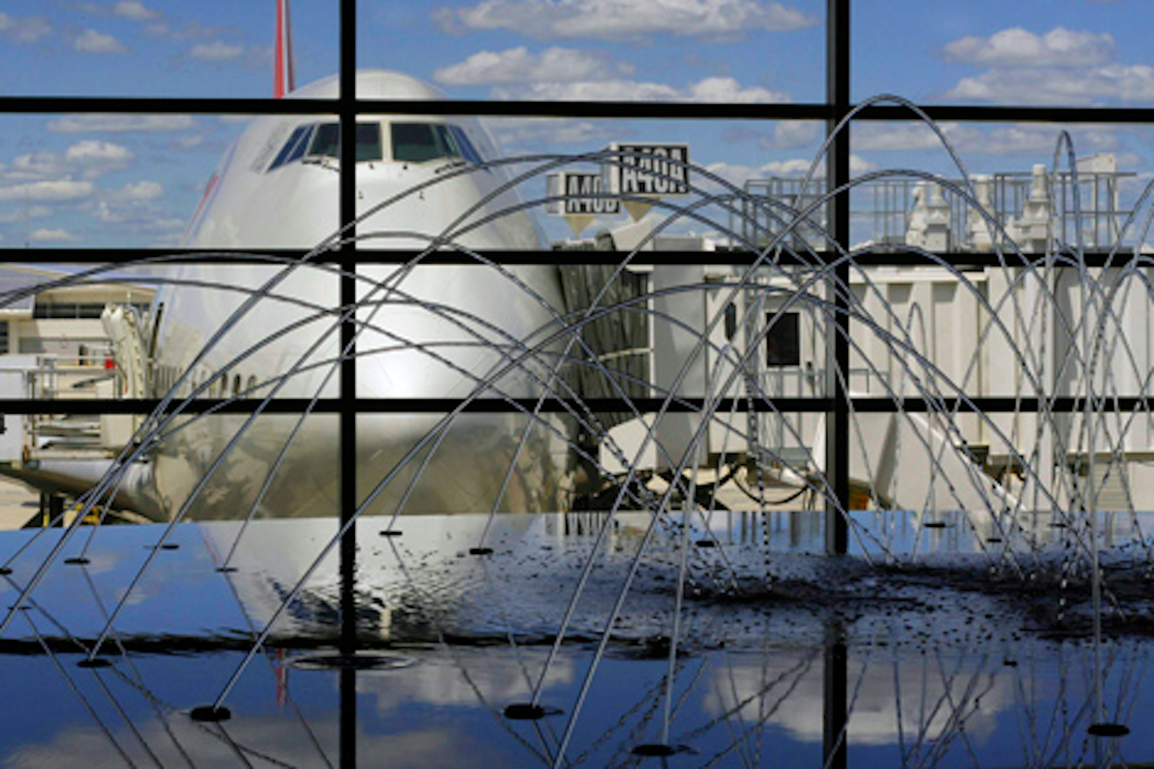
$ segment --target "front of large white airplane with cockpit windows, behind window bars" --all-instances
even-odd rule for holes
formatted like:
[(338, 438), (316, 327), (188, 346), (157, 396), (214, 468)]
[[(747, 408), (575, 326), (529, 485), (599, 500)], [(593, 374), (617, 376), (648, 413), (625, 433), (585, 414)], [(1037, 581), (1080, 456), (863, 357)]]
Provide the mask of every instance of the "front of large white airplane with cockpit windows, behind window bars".
[[(357, 88), (362, 98), (440, 98), (420, 81), (383, 70), (358, 73)], [(334, 77), (292, 96), (336, 95)], [(253, 120), (210, 181), (187, 245), (249, 254), (291, 248), (304, 255), (331, 238), (339, 223), (336, 126), (336, 119), (325, 115)], [(474, 120), (359, 115), (357, 156), (361, 248), (424, 249), (444, 234), (469, 249), (541, 247), (531, 215), (502, 215), (519, 199), (501, 192), (509, 180), (502, 167), (481, 166), (495, 158), (495, 150)], [(460, 171), (466, 172), (456, 173)], [(376, 209), (426, 182), (433, 184)], [(464, 225), (484, 223), (452, 234), (458, 218), (474, 208)], [(192, 367), (177, 388), (180, 397), (210, 381), (201, 397), (336, 396), (340, 301), (332, 267), (307, 263), (290, 269), (269, 297), (201, 354), (252, 292), (284, 269), (212, 263), (170, 270), (172, 284), (157, 292), (153, 313), (156, 394), (164, 395)], [(554, 267), (517, 267), (502, 274), (484, 264), (361, 266), (357, 278), (362, 303), (357, 320), (366, 326), (355, 342), (358, 396), (455, 398), (479, 389), (492, 398), (542, 391), (555, 359), (546, 357), (549, 350), (526, 357), (524, 345), (540, 343), (557, 328), (553, 312), (563, 312), (563, 305)], [(481, 383), (494, 373), (501, 373), (495, 389)], [(358, 498), (388, 477), (441, 419), (441, 415), (358, 416), (357, 456), (343, 460), (358, 464)], [(241, 416), (196, 419), (158, 445), (153, 479), (167, 515), (189, 502), (194, 517), (241, 516), (265, 485), (261, 515), (336, 510), (342, 460), (338, 420), (331, 413), (310, 416), (299, 430), (297, 415), (261, 416), (228, 448), (215, 477), (194, 493), (243, 421)], [(437, 434), (389, 481), (372, 512), (391, 513), (402, 501), (406, 513), (487, 512), (510, 466), (512, 478), (501, 509), (556, 509), (562, 503), (564, 441), (537, 427), (518, 450), (527, 421), (504, 413), (460, 417), (443, 439)], [(282, 456), (290, 438), (291, 448)], [(430, 449), (435, 449), (432, 456)], [(275, 477), (265, 484), (273, 468)], [(418, 475), (419, 483), (410, 490)]]

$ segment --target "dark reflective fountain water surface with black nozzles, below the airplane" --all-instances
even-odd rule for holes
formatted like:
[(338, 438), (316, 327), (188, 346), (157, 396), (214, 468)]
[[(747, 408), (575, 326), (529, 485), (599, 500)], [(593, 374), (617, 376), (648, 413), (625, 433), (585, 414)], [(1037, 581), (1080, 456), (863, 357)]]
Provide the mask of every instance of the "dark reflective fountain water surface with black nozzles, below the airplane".
[[(862, 514), (855, 553), (838, 560), (820, 554), (820, 518), (810, 514), (717, 514), (712, 546), (700, 523), (688, 535), (662, 524), (647, 537), (649, 517), (628, 515), (594, 552), (604, 522), (501, 516), (486, 531), (484, 516), (414, 516), (397, 537), (381, 536), (384, 521), (362, 522), (357, 645), (362, 658), (403, 663), (388, 670), (308, 664), (342, 643), (335, 554), (273, 620), (335, 532), (331, 521), (256, 523), (230, 572), (217, 568), (239, 524), (179, 525), (167, 540), (174, 550), (155, 550), (162, 527), (100, 529), (87, 550), (91, 530), (81, 529), (21, 600), (63, 536), (48, 531), (0, 582), (6, 607), (23, 604), (0, 637), (0, 764), (1154, 761), (1145, 726), (1154, 712), (1152, 591), (1130, 520), (1102, 532), (1114, 540), (1097, 641), (1077, 546), (1044, 522), (1044, 546), (1034, 548), (961, 517), (927, 528)], [(31, 536), (0, 536), (0, 562)], [(88, 563), (63, 562), (82, 550)], [(111, 665), (77, 666), (126, 595), (102, 642)], [(248, 655), (270, 621), (265, 647)], [(189, 717), (234, 677), (223, 699), (228, 721)], [(534, 692), (550, 715), (504, 715)], [(1091, 734), (1101, 723), (1131, 731)], [(844, 753), (823, 746), (831, 736)], [(635, 753), (654, 745), (674, 752)]]

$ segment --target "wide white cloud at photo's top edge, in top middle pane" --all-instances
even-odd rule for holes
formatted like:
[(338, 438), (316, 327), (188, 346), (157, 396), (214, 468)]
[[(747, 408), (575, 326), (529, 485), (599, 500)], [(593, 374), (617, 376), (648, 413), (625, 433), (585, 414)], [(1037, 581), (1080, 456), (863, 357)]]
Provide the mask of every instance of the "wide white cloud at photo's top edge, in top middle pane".
[(448, 31), (503, 29), (541, 39), (733, 37), (817, 23), (780, 2), (757, 0), (482, 0), (433, 16)]

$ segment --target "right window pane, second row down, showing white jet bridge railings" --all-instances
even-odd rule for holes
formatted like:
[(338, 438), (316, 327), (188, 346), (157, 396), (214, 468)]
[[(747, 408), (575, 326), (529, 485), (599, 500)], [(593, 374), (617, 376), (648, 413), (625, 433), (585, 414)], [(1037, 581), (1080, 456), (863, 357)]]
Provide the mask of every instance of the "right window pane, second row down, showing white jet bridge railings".
[[(1031, 242), (1036, 238), (1028, 233), (1026, 224), (1037, 217), (1044, 219), (1042, 231), (1049, 232), (1042, 240), (1054, 237), (1067, 247), (1077, 242), (1078, 225), (1084, 245), (1091, 249), (1108, 249), (1116, 242), (1133, 247), (1141, 239), (1140, 218), (1129, 226), (1126, 219), (1149, 173), (1144, 149), (1148, 129), (961, 122), (945, 122), (937, 128), (942, 136), (922, 122), (855, 125), (852, 144), (860, 170), (911, 170), (936, 174), (946, 185), (896, 171), (855, 189), (854, 242), (921, 242), (927, 236), (914, 231), (926, 232), (927, 212), (941, 210), (945, 217), (942, 247), (930, 251), (971, 251), (989, 244), (973, 207), (959, 194), (965, 189), (965, 176), (973, 182), (974, 194), (1005, 229), (1001, 237), (1020, 241), (1024, 248), (1043, 247)], [(1070, 137), (1069, 144), (1064, 136)], [(961, 167), (951, 158), (947, 145)], [(1071, 149), (1077, 185), (1071, 177)]]

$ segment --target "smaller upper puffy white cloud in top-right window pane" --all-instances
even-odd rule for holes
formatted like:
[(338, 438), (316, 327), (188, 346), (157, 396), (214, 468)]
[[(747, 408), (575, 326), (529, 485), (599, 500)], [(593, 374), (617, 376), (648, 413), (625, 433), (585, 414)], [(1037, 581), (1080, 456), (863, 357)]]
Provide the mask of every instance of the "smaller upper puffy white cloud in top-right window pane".
[(947, 43), (950, 61), (988, 67), (1086, 67), (1114, 59), (1114, 37), (1107, 32), (1078, 32), (1056, 27), (1034, 35), (1020, 27), (1004, 29), (988, 38), (964, 37)]

